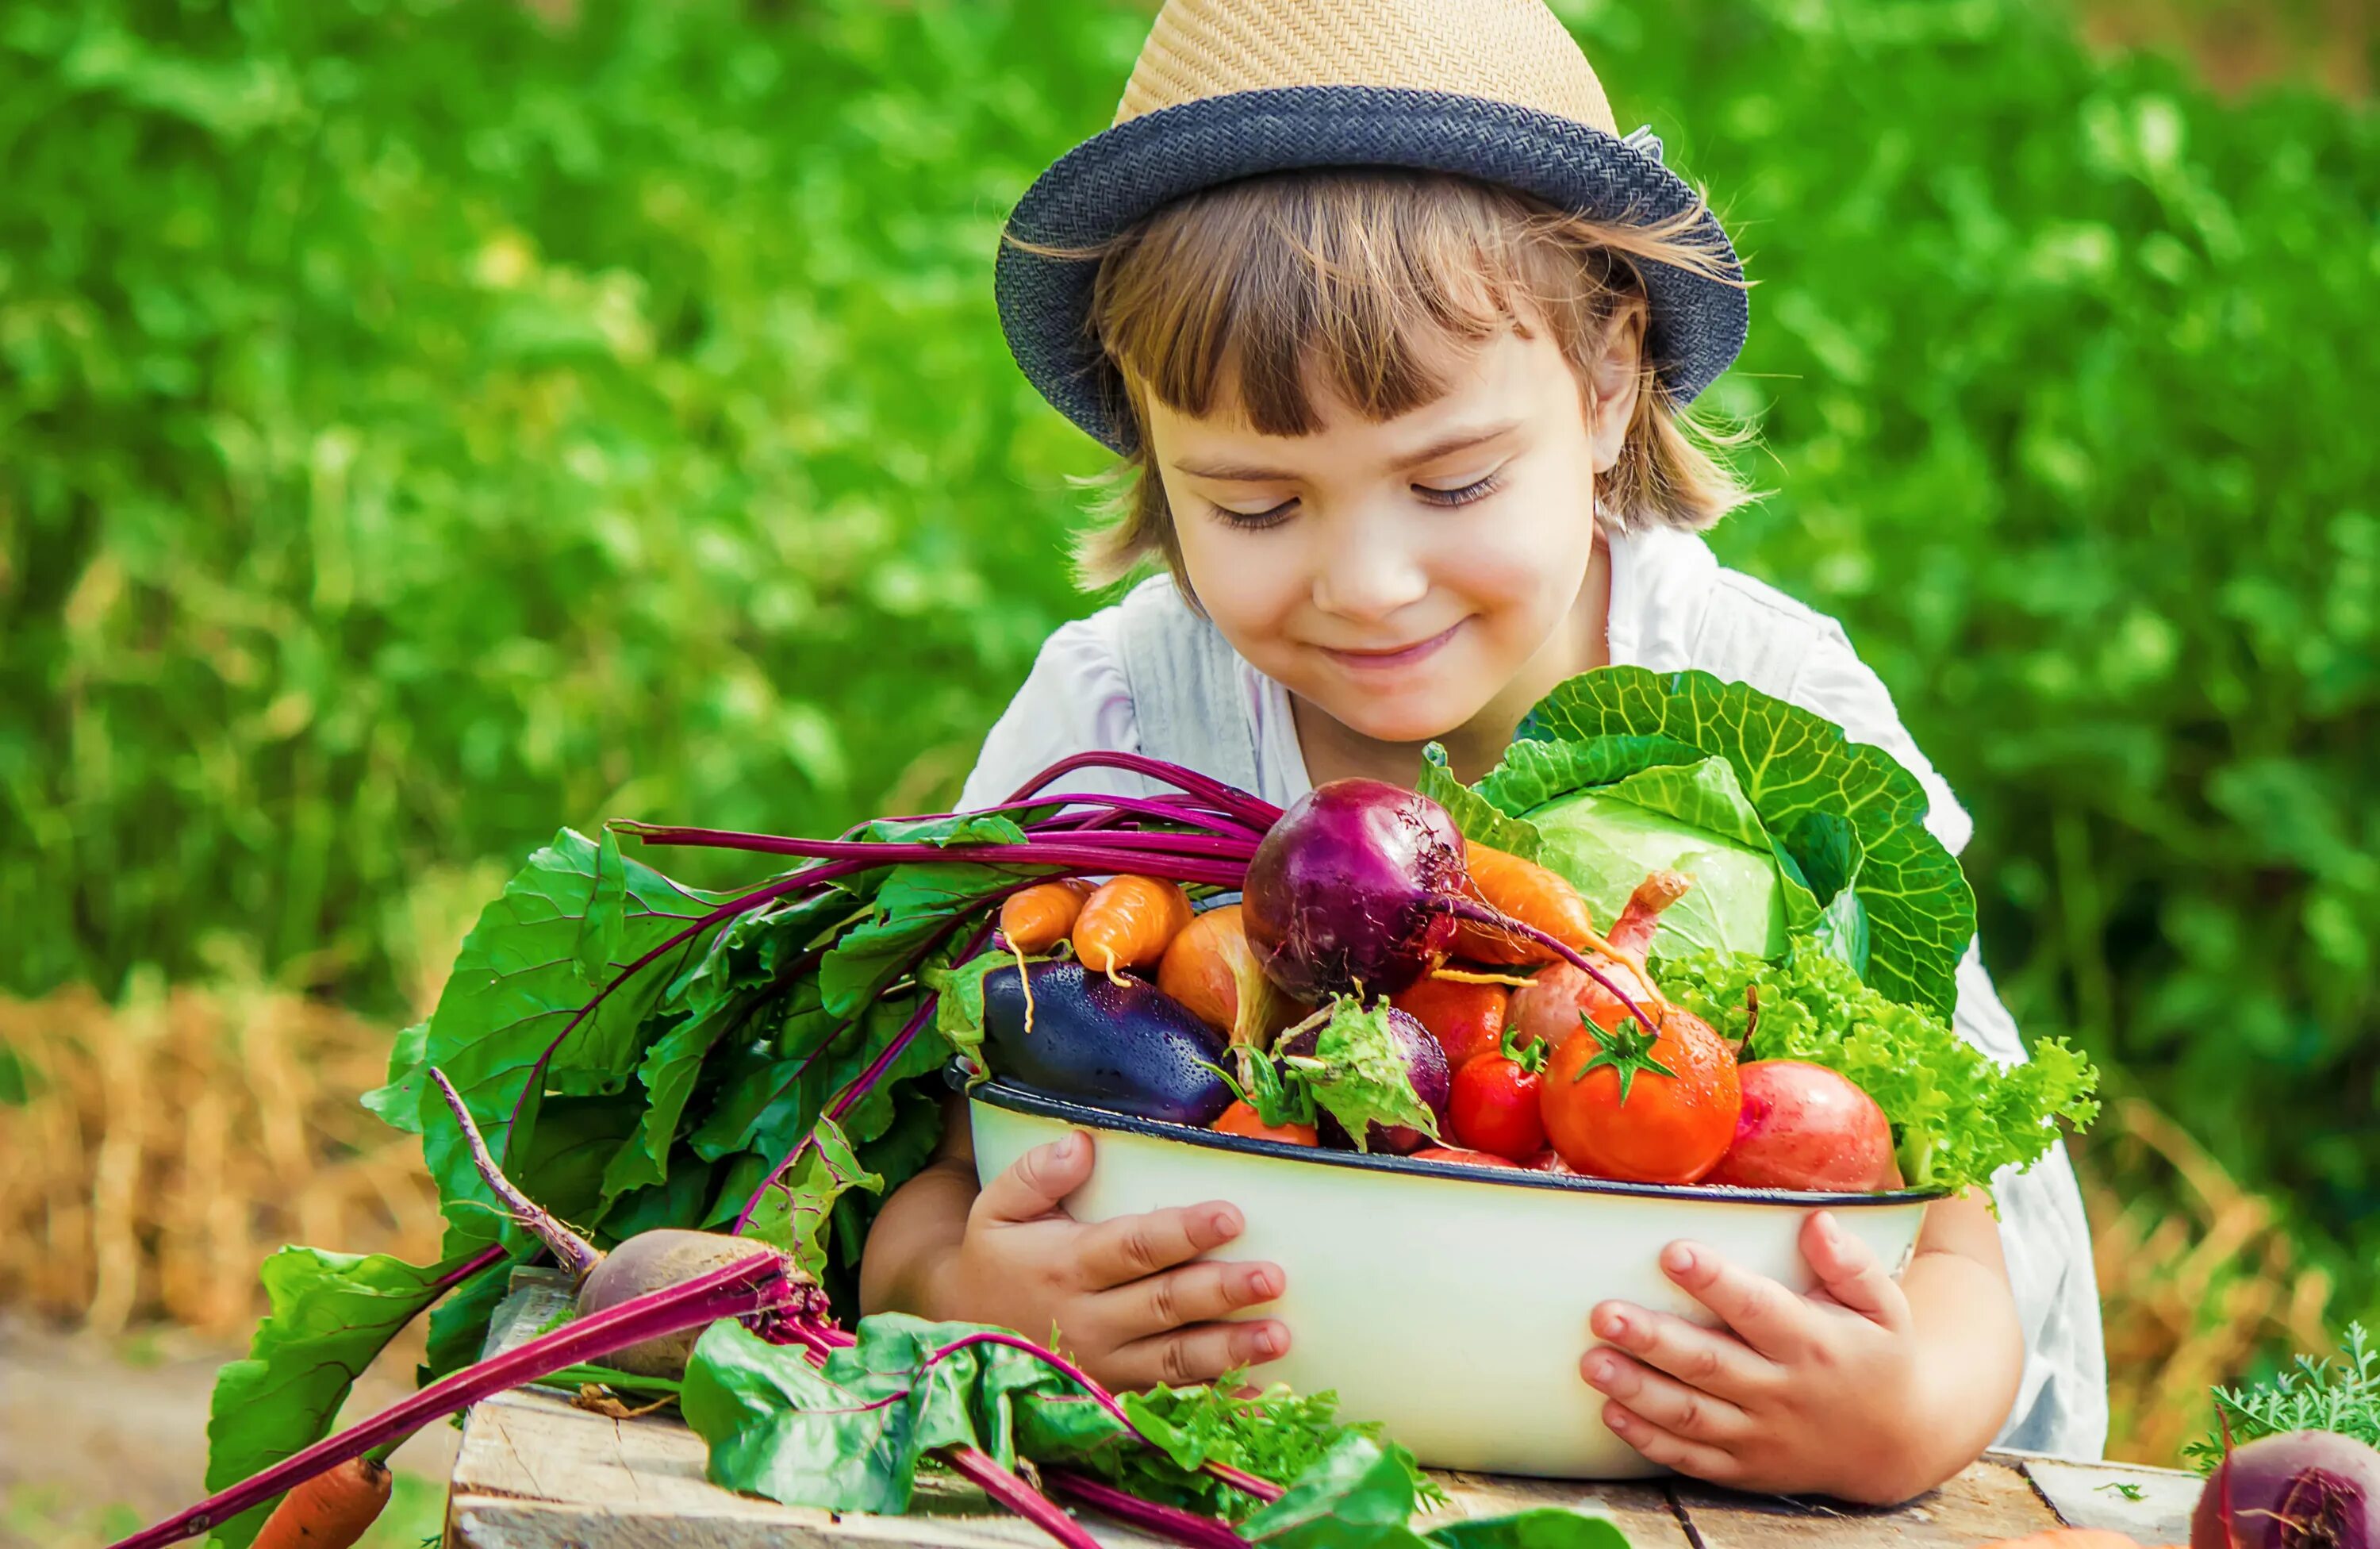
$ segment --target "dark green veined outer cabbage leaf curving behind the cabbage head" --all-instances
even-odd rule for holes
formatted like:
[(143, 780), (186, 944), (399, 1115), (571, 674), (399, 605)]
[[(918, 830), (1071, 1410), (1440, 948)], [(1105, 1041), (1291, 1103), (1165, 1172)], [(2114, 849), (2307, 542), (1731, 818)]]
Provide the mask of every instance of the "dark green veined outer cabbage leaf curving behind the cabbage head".
[[(1852, 742), (1833, 721), (1742, 683), (1642, 666), (1568, 678), (1528, 711), (1521, 738), (1585, 745), (1578, 757), (1592, 757), (1604, 738), (1666, 738), (1718, 754), (1780, 847), (1818, 838), (1806, 826), (1811, 814), (1847, 821), (1859, 840), (1852, 890), (1866, 911), (1868, 983), (1949, 1016), (1959, 957), (1975, 935), (1975, 895), (1925, 830), (1925, 790), (1885, 750)], [(1828, 845), (1804, 876), (1840, 861), (1840, 842)], [(1833, 935), (1840, 945), (1840, 923)]]

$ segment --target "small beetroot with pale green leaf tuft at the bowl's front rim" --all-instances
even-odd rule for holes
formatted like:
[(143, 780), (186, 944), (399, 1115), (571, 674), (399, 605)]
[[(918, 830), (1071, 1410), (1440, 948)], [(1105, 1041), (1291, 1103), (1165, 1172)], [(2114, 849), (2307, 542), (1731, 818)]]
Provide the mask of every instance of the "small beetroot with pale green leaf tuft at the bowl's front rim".
[[(1447, 1097), (1454, 1092), (1447, 1049), (1414, 1016), (1388, 1002), (1376, 1002), (1371, 1009), (1342, 1002), (1333, 1006), (1328, 1021), (1311, 1018), (1290, 1030), (1276, 1054), (1314, 1092), (1319, 1106), (1314, 1128), (1328, 1147), (1402, 1156), (1435, 1144), (1447, 1123)], [(1395, 1111), (1404, 1099), (1395, 1090), (1397, 1078), (1418, 1099), (1418, 1106), (1407, 1104), (1402, 1114)], [(1428, 1125), (1397, 1118), (1428, 1118)], [(1361, 1125), (1361, 1142), (1349, 1125)]]

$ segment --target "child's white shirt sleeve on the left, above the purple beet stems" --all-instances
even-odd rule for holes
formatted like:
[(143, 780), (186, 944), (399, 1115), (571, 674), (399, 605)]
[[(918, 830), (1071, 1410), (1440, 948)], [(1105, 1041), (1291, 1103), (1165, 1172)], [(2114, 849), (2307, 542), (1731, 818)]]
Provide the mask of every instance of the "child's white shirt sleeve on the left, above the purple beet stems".
[[(983, 738), (976, 769), (959, 790), (959, 811), (997, 807), (1009, 795), (1078, 752), (1140, 752), (1133, 690), (1123, 676), (1116, 609), (1061, 623), (1033, 659), (1023, 688)], [(1114, 769), (1081, 769), (1052, 790), (1145, 795), (1150, 783)]]

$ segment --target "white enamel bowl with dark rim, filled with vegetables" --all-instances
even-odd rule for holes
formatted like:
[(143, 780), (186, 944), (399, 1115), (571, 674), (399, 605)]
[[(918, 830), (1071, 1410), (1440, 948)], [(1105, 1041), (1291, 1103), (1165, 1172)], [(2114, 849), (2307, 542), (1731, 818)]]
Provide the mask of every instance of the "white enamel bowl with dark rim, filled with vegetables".
[(1259, 1380), (1338, 1390), (1430, 1468), (1623, 1480), (1661, 1473), (1602, 1418), (1578, 1375), (1587, 1311), (1626, 1299), (1714, 1318), (1661, 1275), (1692, 1237), (1735, 1263), (1811, 1287), (1799, 1230), (1814, 1209), (1894, 1271), (1933, 1194), (1659, 1187), (1316, 1152), (1054, 1102), (1002, 1083), (971, 1095), (976, 1173), (992, 1178), (1069, 1128), (1092, 1133), (1078, 1221), (1228, 1199), (1247, 1230), (1230, 1259), (1269, 1259), (1288, 1290), (1264, 1309), (1290, 1354)]

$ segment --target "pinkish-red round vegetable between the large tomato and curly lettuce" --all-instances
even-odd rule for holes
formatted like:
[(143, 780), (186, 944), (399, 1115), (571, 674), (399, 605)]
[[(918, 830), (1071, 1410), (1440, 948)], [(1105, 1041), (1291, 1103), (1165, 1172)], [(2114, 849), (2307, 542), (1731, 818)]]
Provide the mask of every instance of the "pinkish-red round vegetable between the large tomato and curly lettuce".
[(1842, 1194), (1899, 1185), (1892, 1125), (1849, 1078), (1799, 1059), (1756, 1059), (1735, 1078), (1745, 1095), (1735, 1140), (1704, 1183)]

